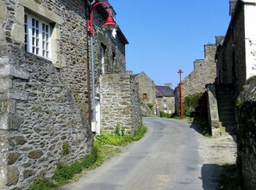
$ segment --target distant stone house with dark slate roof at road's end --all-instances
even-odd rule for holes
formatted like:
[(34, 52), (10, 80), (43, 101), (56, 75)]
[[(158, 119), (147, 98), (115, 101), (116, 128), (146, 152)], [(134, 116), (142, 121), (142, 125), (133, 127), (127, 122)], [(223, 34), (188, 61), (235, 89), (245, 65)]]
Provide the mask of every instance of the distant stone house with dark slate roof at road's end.
[(175, 98), (172, 84), (166, 83), (165, 86), (155, 86), (156, 90), (156, 113), (175, 113)]

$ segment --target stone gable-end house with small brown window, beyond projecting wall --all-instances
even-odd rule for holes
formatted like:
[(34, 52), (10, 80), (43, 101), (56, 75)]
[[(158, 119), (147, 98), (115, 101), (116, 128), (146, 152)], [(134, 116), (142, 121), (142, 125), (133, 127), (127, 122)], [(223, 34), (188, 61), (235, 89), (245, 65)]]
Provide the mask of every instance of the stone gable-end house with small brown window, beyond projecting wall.
[(143, 115), (152, 116), (153, 110), (155, 110), (155, 83), (143, 71), (133, 75), (133, 77), (138, 83), (141, 112)]

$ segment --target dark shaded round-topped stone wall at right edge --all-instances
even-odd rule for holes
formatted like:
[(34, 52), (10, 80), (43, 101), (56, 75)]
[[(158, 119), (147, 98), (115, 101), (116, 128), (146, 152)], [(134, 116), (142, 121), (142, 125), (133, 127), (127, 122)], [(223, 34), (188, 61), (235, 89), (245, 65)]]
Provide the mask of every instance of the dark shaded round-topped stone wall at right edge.
[(247, 80), (237, 101), (238, 160), (245, 189), (256, 189), (256, 77)]

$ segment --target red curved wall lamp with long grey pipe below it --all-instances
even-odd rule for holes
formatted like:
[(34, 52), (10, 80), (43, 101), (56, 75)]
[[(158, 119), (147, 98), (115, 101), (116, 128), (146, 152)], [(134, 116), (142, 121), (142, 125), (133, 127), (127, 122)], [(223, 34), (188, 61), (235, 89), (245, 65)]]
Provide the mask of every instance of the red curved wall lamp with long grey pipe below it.
[[(109, 5), (104, 2), (98, 2), (92, 5), (90, 12), (89, 12), (89, 19), (87, 21), (87, 31), (88, 34), (91, 36), (91, 96), (92, 96), (92, 123), (91, 123), (91, 131), (92, 132), (100, 132), (100, 129), (97, 129), (96, 125), (96, 98), (95, 98), (95, 65), (94, 65), (94, 50), (93, 50), (93, 10), (98, 6), (103, 5), (108, 9), (108, 17), (103, 24), (103, 28), (107, 28), (109, 30), (113, 28), (118, 28), (118, 24), (116, 24), (116, 21), (111, 17), (111, 9), (109, 8)], [(91, 98), (91, 97), (90, 97)], [(91, 114), (91, 113), (89, 113)]]

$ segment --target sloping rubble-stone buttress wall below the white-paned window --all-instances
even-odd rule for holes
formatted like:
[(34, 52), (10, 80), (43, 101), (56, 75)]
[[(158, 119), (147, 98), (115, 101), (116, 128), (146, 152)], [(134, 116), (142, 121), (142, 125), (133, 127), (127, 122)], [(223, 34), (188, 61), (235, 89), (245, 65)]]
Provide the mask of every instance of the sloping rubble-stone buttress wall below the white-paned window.
[(93, 136), (52, 62), (9, 45), (0, 57), (0, 181), (24, 189), (36, 176), (52, 176), (57, 162), (90, 153)]

